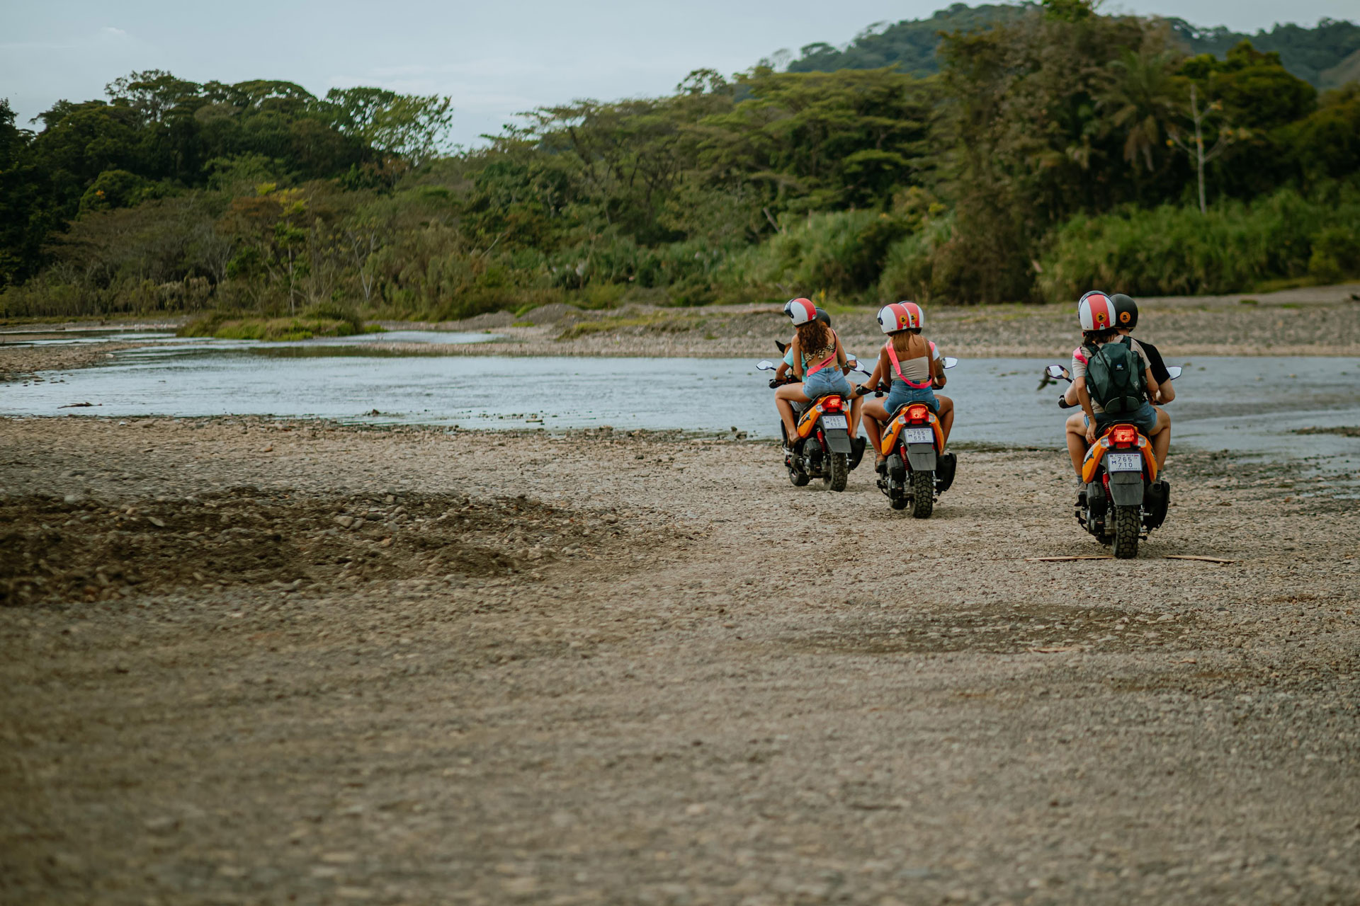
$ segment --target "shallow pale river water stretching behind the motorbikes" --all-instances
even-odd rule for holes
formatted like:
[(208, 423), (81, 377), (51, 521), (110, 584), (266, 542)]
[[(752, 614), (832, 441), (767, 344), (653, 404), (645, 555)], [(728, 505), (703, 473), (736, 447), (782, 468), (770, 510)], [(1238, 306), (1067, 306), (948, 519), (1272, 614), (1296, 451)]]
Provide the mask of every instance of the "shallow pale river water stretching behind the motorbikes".
[[(778, 433), (768, 374), (747, 359), (422, 356), (374, 348), (494, 338), (426, 331), (292, 344), (139, 337), (155, 342), (118, 352), (105, 365), (0, 387), (0, 414), (267, 414), (464, 428)], [(1061, 447), (1059, 388), (1038, 390), (1044, 361), (960, 361), (945, 391), (959, 406), (953, 437)], [(1360, 439), (1293, 433), (1360, 425), (1357, 359), (1197, 356), (1167, 364), (1186, 368), (1170, 407), (1176, 444), (1360, 459)], [(86, 402), (91, 405), (72, 407)]]

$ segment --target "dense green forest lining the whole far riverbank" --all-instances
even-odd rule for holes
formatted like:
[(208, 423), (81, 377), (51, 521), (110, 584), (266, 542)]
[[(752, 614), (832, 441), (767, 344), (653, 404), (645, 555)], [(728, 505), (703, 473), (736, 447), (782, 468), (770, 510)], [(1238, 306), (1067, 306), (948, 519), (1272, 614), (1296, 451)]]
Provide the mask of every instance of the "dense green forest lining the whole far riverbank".
[[(789, 71), (541, 107), (475, 149), (443, 147), (450, 99), (378, 88), (140, 72), (37, 130), (0, 103), (0, 316), (442, 319), (1360, 276), (1355, 81), (1319, 92), (1255, 38), (1197, 54), (1183, 23), (1084, 0), (923, 22), (937, 71), (798, 71), (805, 49)], [(1297, 50), (1356, 27), (1291, 29), (1272, 34)]]

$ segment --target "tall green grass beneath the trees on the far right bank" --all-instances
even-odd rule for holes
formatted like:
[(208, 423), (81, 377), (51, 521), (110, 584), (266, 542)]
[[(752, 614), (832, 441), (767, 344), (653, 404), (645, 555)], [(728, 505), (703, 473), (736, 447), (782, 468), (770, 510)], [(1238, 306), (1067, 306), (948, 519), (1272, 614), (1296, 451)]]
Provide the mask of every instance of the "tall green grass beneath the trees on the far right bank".
[(1360, 185), (1311, 197), (1284, 189), (1208, 213), (1163, 205), (1074, 217), (1055, 230), (1039, 288), (1074, 297), (1092, 287), (1134, 295), (1250, 289), (1269, 280), (1333, 281), (1360, 272)]

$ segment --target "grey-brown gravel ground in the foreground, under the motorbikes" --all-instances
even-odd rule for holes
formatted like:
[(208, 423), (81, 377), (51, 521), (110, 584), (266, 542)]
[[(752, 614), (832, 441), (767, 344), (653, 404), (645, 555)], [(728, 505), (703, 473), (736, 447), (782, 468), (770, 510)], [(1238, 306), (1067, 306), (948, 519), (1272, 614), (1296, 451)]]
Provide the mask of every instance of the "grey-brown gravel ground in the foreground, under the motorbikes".
[(3, 420), (0, 901), (1356, 902), (1356, 501), (1065, 460)]

